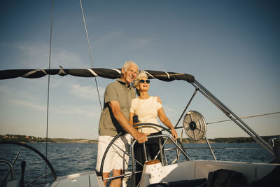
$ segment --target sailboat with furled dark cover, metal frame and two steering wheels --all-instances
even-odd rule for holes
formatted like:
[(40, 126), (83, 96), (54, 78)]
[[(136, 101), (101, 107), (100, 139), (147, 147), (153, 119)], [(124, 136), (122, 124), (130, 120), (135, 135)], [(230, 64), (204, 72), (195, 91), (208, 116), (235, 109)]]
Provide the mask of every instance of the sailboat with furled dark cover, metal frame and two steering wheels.
[[(123, 186), (157, 186), (157, 185), (171, 185), (171, 186), (206, 186), (210, 185), (209, 183), (218, 182), (214, 174), (216, 173), (216, 177), (218, 176), (235, 176), (239, 179), (241, 176), (244, 177), (246, 184), (251, 186), (258, 186), (265, 184), (266, 186), (271, 185), (276, 182), (277, 176), (279, 176), (280, 172), (280, 137), (272, 137), (269, 139), (269, 142), (264, 141), (251, 127), (249, 127), (246, 123), (244, 123), (239, 116), (233, 113), (225, 104), (223, 104), (218, 98), (216, 98), (207, 88), (199, 83), (196, 78), (191, 74), (181, 74), (175, 72), (165, 72), (165, 71), (151, 71), (145, 70), (149, 79), (156, 78), (160, 81), (167, 81), (172, 83), (174, 81), (183, 81), (184, 83), (190, 83), (194, 87), (194, 92), (190, 101), (186, 104), (186, 108), (183, 110), (179, 121), (183, 120), (181, 126), (178, 124), (175, 126), (176, 129), (182, 129), (186, 132), (190, 139), (198, 141), (200, 139), (204, 139), (207, 142), (209, 153), (213, 156), (213, 160), (192, 160), (188, 155), (186, 148), (183, 146), (180, 139), (174, 141), (170, 132), (165, 127), (161, 125), (151, 124), (151, 123), (139, 123), (135, 126), (141, 125), (155, 125), (162, 128), (162, 135), (159, 135), (165, 139), (163, 141), (162, 147), (160, 148), (160, 160), (149, 158), (144, 165), (143, 171), (141, 171), (141, 181), (140, 183), (135, 183), (135, 174), (137, 173), (135, 170), (135, 163), (137, 160), (134, 158), (133, 146), (135, 144), (135, 140), (132, 140), (130, 145), (131, 151), (126, 153), (130, 156), (130, 169), (125, 171), (125, 174), (120, 176), (111, 176), (107, 179), (123, 179)], [(120, 69), (8, 69), (0, 71), (0, 80), (7, 78), (40, 78), (46, 75), (59, 75), (59, 76), (79, 76), (79, 77), (97, 77), (100, 76), (102, 78), (118, 78), (120, 77)], [(206, 97), (209, 102), (214, 104), (225, 116), (228, 116), (233, 123), (238, 125), (241, 130), (244, 130), (246, 134), (248, 134), (254, 141), (256, 141), (262, 148), (274, 156), (274, 161), (269, 163), (264, 162), (235, 162), (235, 161), (223, 161), (217, 160), (216, 155), (214, 154), (213, 148), (209, 140), (207, 139), (207, 123), (205, 122), (204, 117), (198, 111), (188, 110), (190, 103), (193, 101), (197, 92), (200, 92), (204, 97)], [(109, 144), (109, 147), (106, 149), (106, 152), (109, 150), (111, 146), (114, 145), (114, 142), (118, 137), (122, 135), (123, 132), (118, 134)], [(153, 138), (153, 137), (148, 137)], [(165, 148), (166, 142), (174, 145), (172, 148)], [(25, 144), (14, 143), (14, 142), (5, 142), (2, 141), (1, 144), (19, 144), (20, 146), (27, 146)], [(118, 146), (117, 146), (118, 148)], [(84, 172), (78, 174), (71, 174), (68, 176), (60, 176), (57, 177), (55, 174), (55, 169), (53, 169), (52, 165), (48, 161), (47, 158), (43, 156), (36, 149), (29, 147), (31, 151), (35, 151), (38, 153), (41, 158), (45, 160), (50, 168), (50, 172), (48, 174), (52, 174), (54, 181), (52, 183), (48, 183), (45, 186), (104, 186), (102, 182), (102, 175), (98, 175), (97, 172)], [(173, 159), (170, 160), (167, 158), (167, 155), (170, 150), (174, 155)], [(104, 154), (102, 160), (101, 173), (103, 171), (104, 160), (106, 158), (106, 152)], [(0, 162), (5, 162), (9, 165), (10, 170), (13, 171), (13, 163), (9, 160), (0, 160)], [(24, 172), (25, 164), (22, 164), (22, 172)], [(221, 172), (224, 172), (221, 174)], [(233, 172), (233, 173), (232, 173)], [(239, 175), (240, 174), (240, 175)], [(43, 176), (41, 176), (43, 178)], [(229, 177), (230, 179), (230, 177)], [(21, 181), (24, 179), (17, 179), (8, 182), (7, 186), (20, 186)], [(228, 179), (227, 179), (228, 180)], [(237, 182), (236, 180), (232, 181), (233, 183)], [(243, 183), (244, 184), (244, 183)], [(234, 185), (234, 184), (233, 184)]]

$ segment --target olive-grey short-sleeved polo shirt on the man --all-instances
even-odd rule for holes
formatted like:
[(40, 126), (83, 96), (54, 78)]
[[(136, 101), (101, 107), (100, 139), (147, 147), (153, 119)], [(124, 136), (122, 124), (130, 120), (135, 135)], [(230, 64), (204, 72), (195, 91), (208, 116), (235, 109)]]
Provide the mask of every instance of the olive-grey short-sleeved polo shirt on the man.
[(99, 120), (99, 135), (116, 136), (123, 131), (116, 118), (113, 117), (109, 102), (117, 101), (120, 104), (120, 111), (128, 119), (130, 116), (130, 106), (135, 98), (135, 90), (131, 85), (126, 85), (120, 78), (116, 82), (107, 85), (104, 93), (104, 108)]

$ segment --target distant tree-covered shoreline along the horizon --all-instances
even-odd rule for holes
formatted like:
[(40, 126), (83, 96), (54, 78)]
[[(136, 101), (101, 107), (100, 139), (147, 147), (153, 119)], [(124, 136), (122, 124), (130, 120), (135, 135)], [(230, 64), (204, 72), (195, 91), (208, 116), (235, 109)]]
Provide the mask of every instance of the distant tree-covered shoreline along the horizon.
[[(261, 136), (267, 143), (269, 143), (269, 138), (272, 136)], [(214, 138), (208, 139), (211, 144), (215, 143), (255, 143), (251, 137), (230, 137), (230, 138)], [(16, 134), (6, 134), (0, 135), (0, 141), (20, 141), (24, 143), (45, 143), (46, 139), (41, 137), (33, 137), (27, 135), (16, 135)], [(66, 138), (48, 138), (48, 143), (73, 143), (73, 144), (97, 144), (98, 139), (66, 139)], [(167, 142), (168, 143), (168, 142)], [(182, 143), (197, 143), (205, 144), (207, 143), (205, 139), (200, 139), (198, 141), (192, 140), (190, 138), (183, 138)]]

